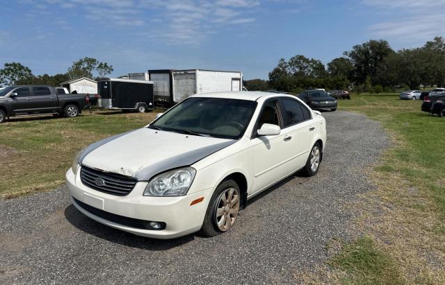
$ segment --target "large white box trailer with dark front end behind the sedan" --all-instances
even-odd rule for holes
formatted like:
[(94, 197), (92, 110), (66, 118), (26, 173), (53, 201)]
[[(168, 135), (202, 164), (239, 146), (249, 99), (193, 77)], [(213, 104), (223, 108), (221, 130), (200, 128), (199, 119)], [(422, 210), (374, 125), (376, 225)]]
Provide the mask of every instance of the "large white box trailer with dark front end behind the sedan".
[(149, 80), (154, 83), (156, 103), (175, 104), (193, 94), (243, 89), (240, 71), (156, 69), (148, 73)]

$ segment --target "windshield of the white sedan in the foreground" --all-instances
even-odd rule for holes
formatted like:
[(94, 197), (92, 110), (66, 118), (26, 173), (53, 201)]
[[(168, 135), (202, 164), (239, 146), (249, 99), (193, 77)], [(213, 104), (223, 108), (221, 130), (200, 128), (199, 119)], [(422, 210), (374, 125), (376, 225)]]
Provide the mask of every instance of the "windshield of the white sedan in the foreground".
[(239, 139), (245, 132), (257, 102), (227, 98), (188, 98), (148, 128), (187, 135)]

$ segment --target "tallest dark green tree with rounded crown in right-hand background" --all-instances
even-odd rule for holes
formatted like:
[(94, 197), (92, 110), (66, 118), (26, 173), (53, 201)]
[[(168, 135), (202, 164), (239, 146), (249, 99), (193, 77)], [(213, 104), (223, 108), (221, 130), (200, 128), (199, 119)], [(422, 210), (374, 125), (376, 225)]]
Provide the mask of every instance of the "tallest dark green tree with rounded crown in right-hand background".
[(351, 51), (346, 51), (343, 55), (348, 56), (354, 67), (354, 80), (357, 83), (365, 83), (366, 78), (371, 78), (371, 83), (378, 82), (378, 70), (388, 55), (394, 53), (385, 40), (369, 40), (363, 44), (353, 46)]

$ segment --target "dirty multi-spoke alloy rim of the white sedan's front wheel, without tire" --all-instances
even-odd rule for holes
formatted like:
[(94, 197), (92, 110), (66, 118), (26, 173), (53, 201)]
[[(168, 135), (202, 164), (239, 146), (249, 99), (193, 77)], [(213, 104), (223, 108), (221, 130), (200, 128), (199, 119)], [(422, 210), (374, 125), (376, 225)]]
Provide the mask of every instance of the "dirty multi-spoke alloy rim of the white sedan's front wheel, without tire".
[(216, 225), (222, 232), (227, 232), (236, 221), (239, 211), (240, 195), (234, 188), (225, 189), (218, 198), (216, 206)]

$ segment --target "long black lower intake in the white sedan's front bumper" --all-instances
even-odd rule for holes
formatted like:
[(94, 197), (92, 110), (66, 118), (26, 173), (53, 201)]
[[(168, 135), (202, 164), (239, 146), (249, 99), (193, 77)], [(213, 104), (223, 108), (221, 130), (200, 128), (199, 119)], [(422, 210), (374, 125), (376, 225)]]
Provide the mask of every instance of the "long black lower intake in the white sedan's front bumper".
[(82, 209), (88, 211), (89, 213), (95, 216), (98, 216), (99, 218), (103, 218), (106, 221), (117, 223), (119, 225), (126, 225), (127, 227), (135, 227), (137, 229), (142, 229), (142, 230), (165, 230), (166, 225), (165, 223), (162, 222), (158, 222), (161, 225), (160, 229), (154, 229), (149, 225), (150, 221), (144, 221), (144, 220), (139, 220), (138, 218), (129, 218), (109, 213), (108, 211), (103, 211), (101, 209), (91, 207), (90, 205), (87, 205), (84, 202), (81, 202), (74, 197), (73, 200)]

